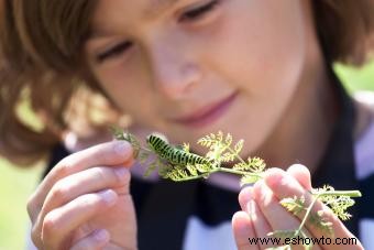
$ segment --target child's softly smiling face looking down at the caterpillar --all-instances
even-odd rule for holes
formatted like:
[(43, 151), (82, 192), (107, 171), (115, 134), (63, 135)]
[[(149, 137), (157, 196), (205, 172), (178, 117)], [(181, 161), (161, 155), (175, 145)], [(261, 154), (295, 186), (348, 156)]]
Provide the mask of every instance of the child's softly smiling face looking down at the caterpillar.
[(307, 12), (307, 1), (99, 0), (85, 51), (138, 122), (172, 141), (222, 130), (252, 151), (295, 105)]

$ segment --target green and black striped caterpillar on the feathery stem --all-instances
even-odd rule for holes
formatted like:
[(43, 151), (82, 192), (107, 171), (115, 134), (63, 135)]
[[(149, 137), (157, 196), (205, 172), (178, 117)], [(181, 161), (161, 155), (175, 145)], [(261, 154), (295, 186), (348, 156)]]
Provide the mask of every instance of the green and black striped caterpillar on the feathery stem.
[(150, 134), (146, 142), (151, 149), (162, 159), (165, 159), (172, 164), (176, 165), (195, 165), (195, 164), (210, 164), (210, 162), (197, 154), (183, 151), (168, 144), (164, 139), (157, 134)]

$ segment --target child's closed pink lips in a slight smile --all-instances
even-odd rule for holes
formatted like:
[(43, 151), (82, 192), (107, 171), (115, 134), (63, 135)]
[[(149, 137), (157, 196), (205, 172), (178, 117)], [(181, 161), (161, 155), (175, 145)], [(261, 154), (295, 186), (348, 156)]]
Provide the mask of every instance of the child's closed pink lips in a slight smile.
[(199, 110), (185, 117), (174, 119), (174, 121), (179, 124), (191, 128), (202, 128), (205, 126), (211, 124), (226, 113), (226, 111), (229, 109), (229, 107), (238, 97), (238, 94), (239, 91), (234, 91), (230, 96), (224, 97), (219, 101), (216, 101), (211, 105), (207, 105), (200, 108)]

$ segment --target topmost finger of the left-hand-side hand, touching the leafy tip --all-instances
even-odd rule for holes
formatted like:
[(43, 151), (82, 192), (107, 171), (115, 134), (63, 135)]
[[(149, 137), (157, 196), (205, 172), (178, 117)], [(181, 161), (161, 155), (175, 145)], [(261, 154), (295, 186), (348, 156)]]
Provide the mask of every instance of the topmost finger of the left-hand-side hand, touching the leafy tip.
[(45, 197), (52, 186), (61, 178), (97, 165), (123, 165), (132, 159), (132, 148), (127, 141), (112, 141), (91, 146), (62, 160), (42, 181), (28, 203), (32, 221), (37, 218)]

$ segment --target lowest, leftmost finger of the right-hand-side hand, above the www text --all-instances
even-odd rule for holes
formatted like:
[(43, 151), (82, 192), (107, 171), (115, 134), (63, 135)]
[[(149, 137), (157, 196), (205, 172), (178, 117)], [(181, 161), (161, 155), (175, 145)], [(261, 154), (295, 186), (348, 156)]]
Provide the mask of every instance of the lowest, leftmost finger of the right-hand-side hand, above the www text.
[(237, 211), (232, 216), (232, 230), (238, 250), (256, 250), (258, 246), (253, 242), (256, 238), (251, 217), (245, 211)]

